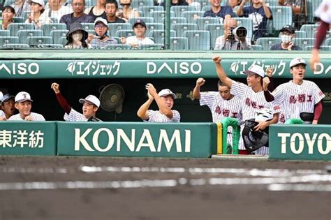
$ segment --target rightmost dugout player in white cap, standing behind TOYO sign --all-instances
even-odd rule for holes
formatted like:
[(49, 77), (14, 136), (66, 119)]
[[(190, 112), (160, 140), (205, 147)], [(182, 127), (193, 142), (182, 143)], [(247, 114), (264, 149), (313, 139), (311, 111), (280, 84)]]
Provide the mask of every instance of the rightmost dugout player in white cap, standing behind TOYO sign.
[[(290, 61), (290, 73), (293, 80), (279, 85), (271, 95), (265, 96), (267, 101), (278, 103), (279, 108), (284, 108), (285, 120), (300, 119), (301, 112), (314, 112), (312, 124), (317, 124), (323, 110), (323, 91), (309, 80), (304, 80), (306, 73), (304, 59), (295, 58)], [(263, 82), (263, 87), (267, 82)]]

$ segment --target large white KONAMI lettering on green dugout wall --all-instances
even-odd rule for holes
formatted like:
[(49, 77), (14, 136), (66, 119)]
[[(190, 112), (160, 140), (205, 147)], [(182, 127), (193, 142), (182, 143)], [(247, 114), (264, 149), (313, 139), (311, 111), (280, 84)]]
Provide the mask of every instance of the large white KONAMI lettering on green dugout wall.
[[(139, 138), (138, 145), (135, 145), (136, 131), (135, 129), (131, 129), (131, 133), (125, 133), (123, 129), (116, 129), (116, 133), (114, 135), (113, 131), (108, 128), (96, 129), (86, 129), (85, 131), (81, 131), (81, 129), (74, 129), (75, 131), (75, 151), (80, 151), (80, 147), (84, 147), (89, 152), (108, 152), (112, 149), (115, 143), (116, 137), (116, 151), (120, 152), (121, 147), (125, 145), (131, 152), (140, 152), (142, 147), (148, 147), (149, 152), (161, 152), (162, 147), (170, 152), (171, 148), (175, 145), (176, 152), (183, 152), (182, 149), (182, 139), (181, 139), (181, 131), (175, 129), (172, 133), (171, 137), (168, 135), (165, 129), (159, 130), (159, 140), (154, 143), (157, 138), (153, 138), (148, 129), (144, 129), (142, 135)], [(101, 132), (108, 135), (108, 139), (103, 138), (103, 142), (106, 143), (106, 146), (100, 146), (99, 140), (101, 138), (99, 135)], [(184, 152), (191, 152), (191, 131), (184, 130)], [(88, 140), (91, 141), (91, 145)], [(155, 144), (158, 146), (157, 150)]]

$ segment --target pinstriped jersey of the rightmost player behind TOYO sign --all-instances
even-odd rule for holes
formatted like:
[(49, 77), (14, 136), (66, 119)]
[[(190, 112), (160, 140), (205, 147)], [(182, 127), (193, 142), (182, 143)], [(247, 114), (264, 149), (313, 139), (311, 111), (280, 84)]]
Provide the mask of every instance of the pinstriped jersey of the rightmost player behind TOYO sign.
[(272, 92), (274, 100), (284, 108), (285, 120), (300, 119), (301, 112), (314, 112), (314, 105), (325, 97), (323, 91), (309, 80), (303, 80), (301, 85), (292, 80), (279, 85)]

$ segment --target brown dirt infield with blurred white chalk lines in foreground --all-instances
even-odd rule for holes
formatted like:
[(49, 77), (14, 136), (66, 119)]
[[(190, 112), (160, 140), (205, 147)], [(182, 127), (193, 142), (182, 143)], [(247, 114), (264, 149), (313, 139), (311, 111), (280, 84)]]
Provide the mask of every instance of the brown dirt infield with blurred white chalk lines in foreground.
[(0, 219), (331, 219), (331, 162), (0, 157)]

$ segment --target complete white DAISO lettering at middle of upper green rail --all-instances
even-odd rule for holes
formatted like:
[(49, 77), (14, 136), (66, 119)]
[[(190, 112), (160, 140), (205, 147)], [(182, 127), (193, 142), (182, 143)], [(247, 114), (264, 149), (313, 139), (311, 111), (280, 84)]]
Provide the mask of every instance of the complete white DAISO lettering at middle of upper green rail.
[(163, 62), (161, 66), (158, 66), (154, 62), (147, 62), (146, 63), (146, 73), (147, 74), (154, 74), (154, 73), (161, 73), (161, 71), (165, 71), (166, 73), (170, 74), (199, 74), (201, 73), (202, 66), (199, 62), (193, 62), (189, 64), (188, 62), (172, 62), (168, 64), (167, 62)]

